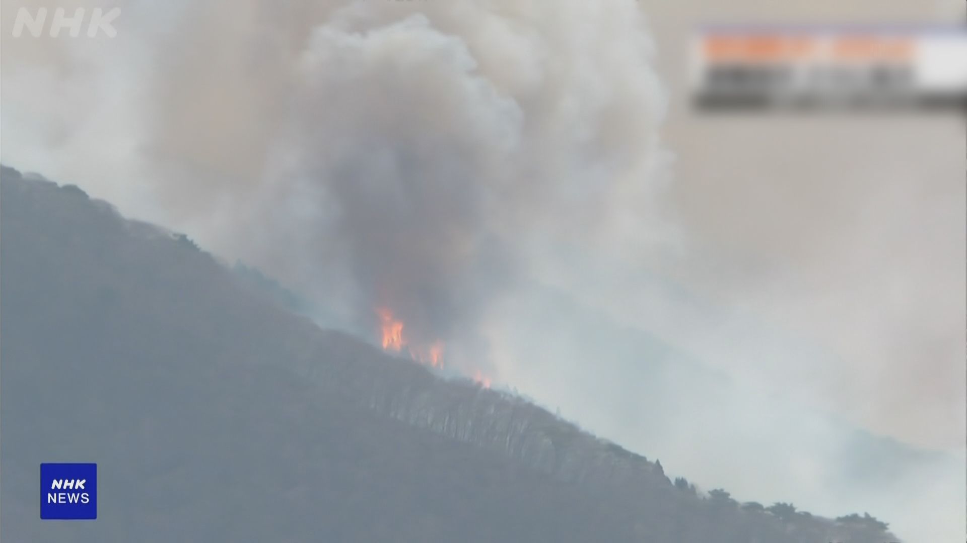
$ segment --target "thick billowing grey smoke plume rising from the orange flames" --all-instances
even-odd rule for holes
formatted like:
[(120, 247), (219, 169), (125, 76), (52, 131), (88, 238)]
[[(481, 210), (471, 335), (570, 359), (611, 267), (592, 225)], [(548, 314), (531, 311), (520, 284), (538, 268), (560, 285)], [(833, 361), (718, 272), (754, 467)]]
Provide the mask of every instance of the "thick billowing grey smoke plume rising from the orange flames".
[(633, 4), (314, 4), (185, 5), (155, 52), (141, 150), (202, 241), (453, 354), (529, 244), (641, 230), (663, 98)]

